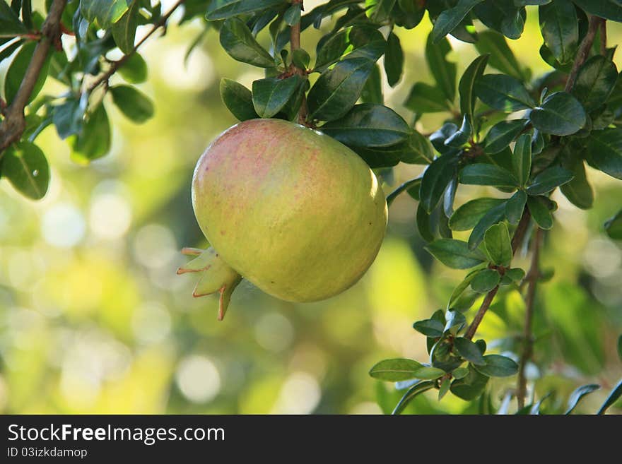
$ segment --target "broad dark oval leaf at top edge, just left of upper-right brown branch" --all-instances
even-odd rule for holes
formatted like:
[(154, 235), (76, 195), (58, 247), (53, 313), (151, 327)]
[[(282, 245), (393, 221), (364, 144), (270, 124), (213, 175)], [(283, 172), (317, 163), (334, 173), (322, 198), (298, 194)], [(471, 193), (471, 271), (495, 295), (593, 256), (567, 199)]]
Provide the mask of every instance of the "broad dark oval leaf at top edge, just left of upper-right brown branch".
[(544, 44), (561, 64), (575, 59), (579, 44), (577, 11), (570, 0), (554, 0), (539, 8)]

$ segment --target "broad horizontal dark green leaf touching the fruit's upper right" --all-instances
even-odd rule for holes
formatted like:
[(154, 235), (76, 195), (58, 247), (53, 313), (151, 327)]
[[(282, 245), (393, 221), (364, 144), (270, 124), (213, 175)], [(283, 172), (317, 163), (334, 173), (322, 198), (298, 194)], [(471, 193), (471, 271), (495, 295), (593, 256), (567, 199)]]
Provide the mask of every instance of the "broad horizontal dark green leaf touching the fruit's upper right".
[(364, 103), (356, 105), (344, 117), (320, 128), (346, 145), (386, 147), (405, 141), (412, 133), (406, 121), (392, 109)]

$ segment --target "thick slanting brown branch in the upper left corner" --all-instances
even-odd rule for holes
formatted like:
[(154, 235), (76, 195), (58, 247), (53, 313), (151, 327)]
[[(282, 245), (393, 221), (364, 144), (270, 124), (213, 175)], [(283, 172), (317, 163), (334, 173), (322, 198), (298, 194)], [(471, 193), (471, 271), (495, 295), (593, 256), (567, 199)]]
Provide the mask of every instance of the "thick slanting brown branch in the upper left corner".
[(0, 155), (9, 145), (20, 139), (26, 128), (24, 109), (28, 105), (30, 95), (33, 94), (50, 47), (59, 40), (61, 16), (66, 3), (66, 0), (54, 0), (49, 8), (49, 13), (41, 28), (41, 40), (35, 47), (22, 83), (0, 125)]

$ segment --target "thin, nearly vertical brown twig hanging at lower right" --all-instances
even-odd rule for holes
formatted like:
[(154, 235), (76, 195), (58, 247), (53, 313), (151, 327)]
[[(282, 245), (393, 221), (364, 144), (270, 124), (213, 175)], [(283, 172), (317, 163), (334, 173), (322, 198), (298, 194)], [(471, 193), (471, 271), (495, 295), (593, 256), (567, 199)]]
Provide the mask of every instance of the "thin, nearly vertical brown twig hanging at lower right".
[(525, 367), (527, 362), (532, 359), (534, 352), (534, 335), (532, 333), (532, 320), (534, 319), (534, 299), (536, 296), (536, 283), (540, 277), (540, 270), (538, 267), (540, 259), (540, 242), (542, 237), (542, 230), (538, 227), (536, 229), (536, 235), (534, 237), (534, 251), (532, 254), (532, 264), (529, 266), (529, 271), (525, 276), (527, 282), (527, 295), (525, 295), (525, 323), (523, 332), (523, 351), (518, 364), (518, 386), (516, 391), (516, 400), (518, 408), (521, 409), (524, 406), (524, 398), (527, 393), (527, 378), (525, 377)]

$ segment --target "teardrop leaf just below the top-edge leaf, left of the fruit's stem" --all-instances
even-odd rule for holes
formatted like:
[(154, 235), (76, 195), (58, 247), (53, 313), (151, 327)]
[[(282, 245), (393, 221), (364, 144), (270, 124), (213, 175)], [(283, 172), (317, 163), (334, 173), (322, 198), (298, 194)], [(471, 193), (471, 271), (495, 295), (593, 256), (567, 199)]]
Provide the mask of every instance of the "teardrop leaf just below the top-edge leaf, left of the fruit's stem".
[(255, 40), (250, 29), (239, 18), (228, 18), (223, 23), (221, 45), (233, 59), (260, 68), (275, 66), (274, 58)]

